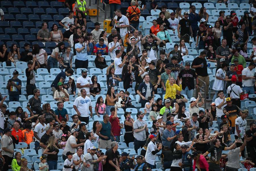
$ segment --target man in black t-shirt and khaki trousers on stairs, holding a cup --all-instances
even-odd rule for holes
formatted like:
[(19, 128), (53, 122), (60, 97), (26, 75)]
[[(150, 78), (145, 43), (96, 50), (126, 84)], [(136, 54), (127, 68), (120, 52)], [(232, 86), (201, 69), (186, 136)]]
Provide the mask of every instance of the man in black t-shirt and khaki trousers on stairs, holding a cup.
[[(195, 58), (192, 62), (191, 68), (195, 69), (198, 78), (203, 80), (206, 83), (206, 94), (208, 95), (208, 88), (209, 88), (209, 76), (207, 72), (207, 62), (206, 62), (206, 53), (202, 51), (200, 56)], [(199, 81), (199, 87), (202, 87), (203, 82)], [(199, 88), (196, 89), (196, 96), (199, 92)], [(206, 100), (211, 100), (209, 96), (206, 97)]]

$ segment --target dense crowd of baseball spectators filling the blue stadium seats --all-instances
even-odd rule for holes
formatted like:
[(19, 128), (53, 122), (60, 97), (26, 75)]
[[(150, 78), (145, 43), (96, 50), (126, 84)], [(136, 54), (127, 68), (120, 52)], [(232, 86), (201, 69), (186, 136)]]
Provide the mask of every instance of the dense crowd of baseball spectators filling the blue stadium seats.
[[(98, 22), (91, 32), (86, 30), (88, 7), (77, 0), (65, 2), (70, 11), (59, 21), (65, 32), (57, 24), (49, 31), (48, 23), (42, 23), (37, 40), (56, 44), (49, 56), (39, 44), (25, 43), (23, 50), (15, 43), (10, 49), (0, 45), (6, 66), (27, 65), (24, 71), (12, 70), (5, 80), (8, 96), (0, 96), (0, 170), (250, 171), (256, 160), (255, 117), (241, 101), (256, 88), (256, 37), (249, 40), (256, 29), (256, 0), (240, 20), (235, 11), (220, 11), (214, 27), (205, 7), (196, 13), (191, 5), (181, 14), (182, 9), (170, 13), (164, 5), (143, 36), (139, 19), (145, 1), (132, 0), (125, 15), (118, 2), (109, 3), (111, 15), (115, 13), (110, 35)], [(158, 9), (154, 0), (150, 6)], [(0, 13), (3, 21), (2, 9)], [(170, 49), (168, 30), (179, 38)], [(187, 60), (190, 37), (200, 53)], [(91, 57), (95, 67), (90, 67)], [(213, 79), (210, 67), (216, 68)], [(45, 81), (36, 79), (40, 68), (47, 73), (60, 69), (49, 81), (51, 97), (45, 103), (44, 88), (37, 86)], [(90, 68), (99, 69), (106, 85)], [(25, 108), (10, 111), (15, 102), (23, 102), (22, 92), (28, 96)], [(249, 129), (247, 117), (252, 118)]]

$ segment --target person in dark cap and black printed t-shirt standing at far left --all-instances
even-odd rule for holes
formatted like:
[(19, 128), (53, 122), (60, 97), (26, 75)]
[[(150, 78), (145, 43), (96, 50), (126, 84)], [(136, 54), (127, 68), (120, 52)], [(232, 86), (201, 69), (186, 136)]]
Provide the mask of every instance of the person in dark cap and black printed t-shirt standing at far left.
[(19, 101), (20, 99), (20, 89), (21, 89), (21, 80), (18, 79), (19, 72), (13, 72), (13, 78), (8, 80), (6, 88), (8, 89), (9, 100), (10, 101)]

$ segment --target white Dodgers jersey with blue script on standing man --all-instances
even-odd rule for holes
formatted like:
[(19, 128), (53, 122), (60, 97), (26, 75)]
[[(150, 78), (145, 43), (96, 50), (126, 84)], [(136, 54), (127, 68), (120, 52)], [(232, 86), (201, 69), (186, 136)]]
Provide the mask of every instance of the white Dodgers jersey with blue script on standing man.
[(80, 112), (81, 117), (88, 117), (89, 116), (89, 106), (92, 106), (92, 101), (90, 97), (79, 96), (75, 99), (74, 105), (77, 106), (77, 110)]

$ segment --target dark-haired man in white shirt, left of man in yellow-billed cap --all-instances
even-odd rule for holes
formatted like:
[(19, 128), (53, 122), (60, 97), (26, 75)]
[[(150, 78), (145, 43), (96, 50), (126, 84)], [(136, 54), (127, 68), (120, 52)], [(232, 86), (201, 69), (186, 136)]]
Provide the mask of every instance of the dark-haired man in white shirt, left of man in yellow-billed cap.
[(217, 117), (217, 124), (218, 128), (220, 127), (220, 124), (222, 123), (221, 116), (223, 113), (223, 108), (227, 105), (226, 99), (223, 93), (223, 90), (218, 91), (218, 98), (215, 99), (215, 105), (216, 105), (216, 117)]

